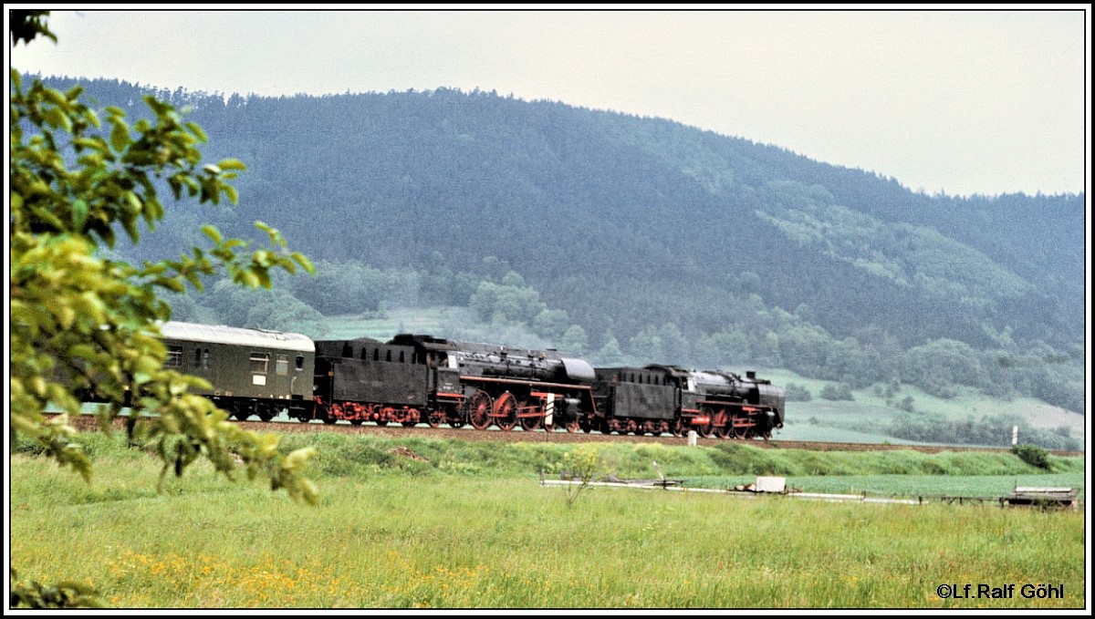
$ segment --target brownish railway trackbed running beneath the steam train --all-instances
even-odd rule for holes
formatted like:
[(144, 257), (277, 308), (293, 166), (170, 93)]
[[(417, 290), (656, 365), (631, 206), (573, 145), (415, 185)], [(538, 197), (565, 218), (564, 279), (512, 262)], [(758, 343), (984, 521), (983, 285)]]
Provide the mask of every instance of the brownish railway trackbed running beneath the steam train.
[[(123, 428), (123, 419), (115, 420), (115, 427)], [(458, 439), (462, 441), (504, 441), (510, 443), (660, 443), (662, 445), (688, 445), (687, 436), (648, 436), (635, 434), (602, 434), (598, 432), (544, 432), (542, 430), (528, 432), (523, 430), (502, 431), (502, 430), (474, 430), (472, 428), (429, 428), (426, 425), (414, 425), (405, 428), (402, 425), (376, 425), (371, 423), (351, 425), (348, 423), (323, 424), (323, 423), (300, 423), (297, 421), (233, 421), (244, 430), (254, 432), (338, 432), (343, 434), (361, 434), (369, 436), (385, 436), (393, 439), (419, 437), (419, 439)], [(93, 430), (96, 428), (92, 416), (78, 418), (73, 424), (81, 430)], [(696, 437), (696, 445), (714, 447), (727, 443), (724, 439)], [(742, 444), (752, 445), (769, 449), (806, 449), (811, 452), (883, 452), (883, 451), (914, 451), (925, 454), (936, 454), (940, 452), (1008, 452), (1007, 447), (969, 447), (961, 445), (891, 445), (873, 443), (829, 443), (818, 441), (742, 441)], [(1051, 451), (1054, 456), (1083, 456), (1083, 452), (1061, 452)]]

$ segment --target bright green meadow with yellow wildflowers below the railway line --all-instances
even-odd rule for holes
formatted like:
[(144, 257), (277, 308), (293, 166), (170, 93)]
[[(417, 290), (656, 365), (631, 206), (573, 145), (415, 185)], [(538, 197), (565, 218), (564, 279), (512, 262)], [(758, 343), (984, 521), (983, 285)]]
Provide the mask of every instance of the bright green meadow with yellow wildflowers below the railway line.
[[(1010, 454), (765, 456), (741, 446), (574, 447), (332, 434), (286, 442), (321, 451), (312, 468), (322, 492), (315, 506), (257, 483), (229, 482), (205, 465), (170, 479), (157, 494), (158, 465), (117, 436), (90, 437), (96, 463), (90, 486), (37, 456), (16, 454), (12, 564), (22, 579), (90, 582), (106, 604), (124, 608), (1084, 604), (1081, 513), (603, 488), (575, 497), (573, 489), (537, 483), (540, 469), (558, 470), (575, 449), (595, 451), (601, 468), (624, 477), (649, 477), (656, 458), (667, 476), (698, 486), (783, 467), (820, 474), (794, 477), (797, 486), (877, 480), (892, 490), (936, 479), (957, 481), (956, 488), (970, 483), (977, 493), (988, 488), (979, 483), (991, 482), (971, 477), (1004, 481), (1007, 489), (1019, 478), (1053, 484), (1082, 479), (1076, 458), (1054, 459), (1060, 471), (1042, 476)], [(416, 458), (406, 457), (412, 454)], [(941, 598), (937, 587), (950, 583), (1017, 588), (1012, 599)], [(1063, 598), (1018, 593), (1038, 583), (1063, 584)]]

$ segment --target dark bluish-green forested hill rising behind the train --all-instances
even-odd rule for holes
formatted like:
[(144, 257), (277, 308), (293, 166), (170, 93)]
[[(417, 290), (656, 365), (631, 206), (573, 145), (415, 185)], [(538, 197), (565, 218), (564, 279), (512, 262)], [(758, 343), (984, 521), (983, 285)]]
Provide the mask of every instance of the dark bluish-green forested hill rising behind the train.
[[(137, 86), (83, 84), (146, 115)], [(580, 327), (567, 343), (595, 358), (1037, 395), (1067, 383), (1057, 401), (1083, 409), (1083, 195), (926, 196), (665, 119), (486, 92), (157, 94), (193, 108), (207, 159), (249, 170), (235, 210), (176, 213), (142, 252), (195, 243), (197, 223), (250, 236), (263, 220), (345, 289), (413, 272), (420, 303), (552, 341)], [(314, 310), (349, 310), (295, 285)]]

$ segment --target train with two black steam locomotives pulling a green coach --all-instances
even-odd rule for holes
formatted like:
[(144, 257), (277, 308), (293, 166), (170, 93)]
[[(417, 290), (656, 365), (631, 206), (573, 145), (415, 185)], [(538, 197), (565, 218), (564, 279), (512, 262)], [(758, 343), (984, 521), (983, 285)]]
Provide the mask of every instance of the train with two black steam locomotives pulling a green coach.
[(166, 365), (206, 378), (237, 419), (280, 410), (308, 422), (427, 423), (477, 430), (771, 437), (783, 390), (769, 381), (672, 365), (598, 367), (555, 350), (424, 335), (312, 341), (299, 334), (165, 323)]

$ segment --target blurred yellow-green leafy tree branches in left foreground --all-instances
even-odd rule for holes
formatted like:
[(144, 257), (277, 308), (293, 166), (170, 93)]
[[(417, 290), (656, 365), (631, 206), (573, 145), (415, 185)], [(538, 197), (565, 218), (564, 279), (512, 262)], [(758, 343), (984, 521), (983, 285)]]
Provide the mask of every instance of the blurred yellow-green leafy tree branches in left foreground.
[[(56, 42), (46, 24), (48, 11), (11, 13), (14, 43), (37, 36)], [(237, 284), (269, 288), (277, 270), (311, 271), (290, 253), (277, 230), (256, 223), (269, 247), (223, 238), (203, 227), (206, 248), (177, 259), (131, 265), (117, 257), (124, 235), (140, 240), (165, 213), (159, 192), (212, 206), (237, 202), (230, 184), (242, 162), (203, 163), (197, 145), (205, 132), (169, 103), (146, 96), (151, 119), (127, 119), (118, 107), (96, 110), (79, 85), (60, 92), (35, 80), (23, 86), (11, 70), (10, 150), (10, 430), (28, 437), (57, 463), (90, 481), (91, 463), (77, 440), (70, 414), (93, 395), (105, 401), (100, 421), (110, 424), (124, 407), (151, 413), (141, 423), (142, 440), (154, 444), (161, 460), (160, 486), (200, 457), (233, 478), (235, 459), (251, 479), (269, 479), (295, 499), (314, 502), (315, 486), (302, 471), (309, 448), (284, 455), (277, 437), (244, 432), (207, 398), (188, 393), (203, 381), (163, 367), (166, 351), (158, 324), (171, 318), (162, 299), (187, 284), (200, 290), (203, 278), (226, 272)], [(104, 126), (105, 125), (105, 126)], [(66, 414), (47, 421), (48, 405)], [(30, 584), (10, 575), (11, 604), (87, 605), (93, 592), (73, 583)]]

